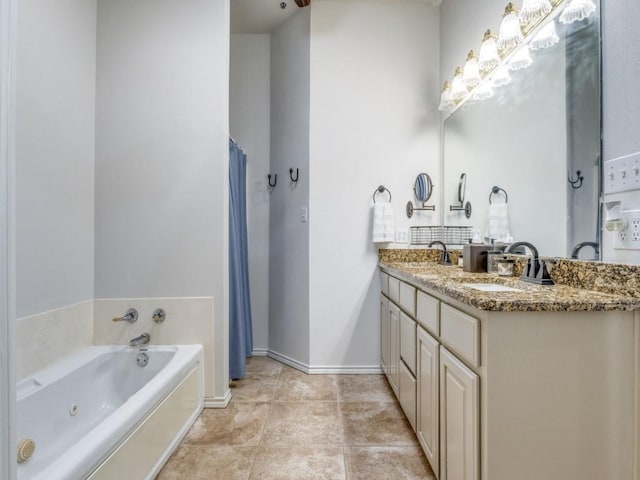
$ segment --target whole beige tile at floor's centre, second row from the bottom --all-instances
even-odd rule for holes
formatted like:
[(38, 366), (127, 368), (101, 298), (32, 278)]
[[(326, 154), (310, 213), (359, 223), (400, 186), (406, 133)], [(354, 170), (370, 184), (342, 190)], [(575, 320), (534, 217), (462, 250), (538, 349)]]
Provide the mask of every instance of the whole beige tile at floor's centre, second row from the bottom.
[(271, 404), (261, 445), (342, 445), (337, 402)]

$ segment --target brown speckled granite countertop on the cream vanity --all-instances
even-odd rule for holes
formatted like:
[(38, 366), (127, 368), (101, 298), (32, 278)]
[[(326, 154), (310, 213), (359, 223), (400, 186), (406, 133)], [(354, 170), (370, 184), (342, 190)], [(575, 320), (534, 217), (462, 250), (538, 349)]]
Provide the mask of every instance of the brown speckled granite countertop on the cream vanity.
[[(640, 309), (640, 297), (575, 288), (542, 286), (488, 273), (469, 273), (457, 266), (445, 267), (430, 259), (418, 262), (381, 259), (380, 267), (391, 275), (439, 292), (480, 310), (504, 312), (578, 312)], [(484, 292), (466, 287), (469, 283), (496, 283), (518, 292)]]

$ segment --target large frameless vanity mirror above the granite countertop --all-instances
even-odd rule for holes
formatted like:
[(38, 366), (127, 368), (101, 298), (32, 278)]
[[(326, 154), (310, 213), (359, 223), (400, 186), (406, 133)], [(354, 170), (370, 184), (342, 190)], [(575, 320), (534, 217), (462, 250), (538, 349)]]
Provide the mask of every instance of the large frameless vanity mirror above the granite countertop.
[[(597, 10), (597, 12), (599, 9)], [(560, 41), (531, 51), (529, 68), (493, 97), (468, 101), (444, 123), (444, 204), (459, 201), (460, 172), (473, 215), (445, 212), (445, 225), (471, 225), (488, 240), (490, 194), (508, 194), (515, 241), (567, 257), (600, 238), (600, 26), (597, 12), (568, 25)], [(580, 258), (597, 258), (585, 248)]]

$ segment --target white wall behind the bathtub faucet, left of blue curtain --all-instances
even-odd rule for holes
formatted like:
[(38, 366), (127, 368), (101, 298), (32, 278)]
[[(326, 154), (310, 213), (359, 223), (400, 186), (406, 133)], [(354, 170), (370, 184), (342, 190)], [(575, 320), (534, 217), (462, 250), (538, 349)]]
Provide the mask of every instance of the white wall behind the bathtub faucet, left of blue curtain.
[(228, 391), (228, 47), (228, 0), (99, 2), (96, 297), (214, 297), (216, 397)]

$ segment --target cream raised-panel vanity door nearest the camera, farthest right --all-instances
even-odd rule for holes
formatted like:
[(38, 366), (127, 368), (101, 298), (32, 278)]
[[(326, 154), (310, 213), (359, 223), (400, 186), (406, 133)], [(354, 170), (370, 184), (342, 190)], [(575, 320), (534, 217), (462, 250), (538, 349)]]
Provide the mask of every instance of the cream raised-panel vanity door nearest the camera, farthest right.
[(440, 348), (440, 480), (478, 480), (478, 376)]

